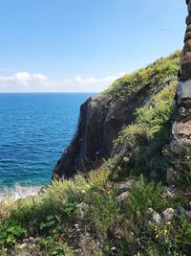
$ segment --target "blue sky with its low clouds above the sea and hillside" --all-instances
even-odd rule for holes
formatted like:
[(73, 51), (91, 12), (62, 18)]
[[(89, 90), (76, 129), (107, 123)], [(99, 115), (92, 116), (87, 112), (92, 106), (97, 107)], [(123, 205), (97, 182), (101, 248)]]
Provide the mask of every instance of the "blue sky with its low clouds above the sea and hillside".
[(182, 0), (0, 0), (0, 92), (96, 92), (183, 46)]

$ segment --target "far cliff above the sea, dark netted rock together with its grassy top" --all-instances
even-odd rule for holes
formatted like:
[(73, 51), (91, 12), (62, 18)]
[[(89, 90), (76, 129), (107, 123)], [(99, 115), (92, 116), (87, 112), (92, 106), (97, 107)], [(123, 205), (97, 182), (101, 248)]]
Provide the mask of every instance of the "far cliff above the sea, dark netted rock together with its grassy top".
[(150, 103), (177, 77), (179, 59), (180, 52), (160, 58), (115, 81), (108, 90), (81, 105), (74, 138), (55, 165), (53, 178), (69, 178), (78, 171), (86, 173), (112, 156), (114, 141), (121, 129), (135, 122), (138, 108)]

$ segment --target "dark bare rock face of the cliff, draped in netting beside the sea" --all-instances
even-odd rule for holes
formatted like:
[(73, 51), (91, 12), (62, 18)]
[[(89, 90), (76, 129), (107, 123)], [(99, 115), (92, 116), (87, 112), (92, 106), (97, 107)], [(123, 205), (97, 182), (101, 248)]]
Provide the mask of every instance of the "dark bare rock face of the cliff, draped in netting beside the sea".
[(114, 104), (110, 101), (108, 96), (96, 97), (81, 105), (74, 139), (55, 165), (53, 178), (69, 178), (78, 171), (96, 169), (110, 155), (118, 132), (135, 120), (135, 110), (141, 104), (137, 97)]

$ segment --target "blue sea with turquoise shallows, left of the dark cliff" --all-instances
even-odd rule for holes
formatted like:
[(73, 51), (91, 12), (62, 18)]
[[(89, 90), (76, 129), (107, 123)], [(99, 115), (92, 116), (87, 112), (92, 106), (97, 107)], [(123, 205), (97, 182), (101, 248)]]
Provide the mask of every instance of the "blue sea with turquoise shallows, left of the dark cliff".
[(0, 190), (49, 183), (74, 136), (80, 105), (95, 95), (0, 94)]

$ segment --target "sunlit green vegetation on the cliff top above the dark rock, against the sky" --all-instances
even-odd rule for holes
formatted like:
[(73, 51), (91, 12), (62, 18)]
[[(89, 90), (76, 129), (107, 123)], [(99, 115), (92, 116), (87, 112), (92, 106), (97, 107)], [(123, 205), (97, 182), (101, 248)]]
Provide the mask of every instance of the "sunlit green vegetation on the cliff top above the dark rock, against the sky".
[(180, 51), (175, 52), (168, 58), (159, 58), (146, 68), (139, 69), (130, 75), (125, 75), (114, 83), (98, 97), (108, 97), (109, 105), (121, 98), (133, 98), (140, 91), (138, 101), (143, 97), (143, 91), (151, 94), (164, 85), (167, 81), (177, 77), (179, 70)]

